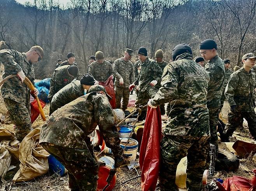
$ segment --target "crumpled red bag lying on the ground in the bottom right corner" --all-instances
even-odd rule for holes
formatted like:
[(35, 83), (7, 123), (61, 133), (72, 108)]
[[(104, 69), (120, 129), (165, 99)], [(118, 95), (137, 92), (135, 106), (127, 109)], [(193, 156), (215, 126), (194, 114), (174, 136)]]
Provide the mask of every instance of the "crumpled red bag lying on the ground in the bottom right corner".
[(256, 169), (252, 172), (254, 172), (254, 177), (251, 180), (241, 176), (233, 176), (226, 179), (222, 185), (217, 182), (217, 186), (221, 191), (256, 191)]

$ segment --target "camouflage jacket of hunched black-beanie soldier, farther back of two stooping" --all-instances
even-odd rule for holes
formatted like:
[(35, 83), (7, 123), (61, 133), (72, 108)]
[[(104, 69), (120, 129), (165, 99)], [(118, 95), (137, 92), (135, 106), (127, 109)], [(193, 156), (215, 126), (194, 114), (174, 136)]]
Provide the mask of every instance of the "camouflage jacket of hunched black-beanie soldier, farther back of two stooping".
[(54, 94), (56, 94), (61, 88), (69, 84), (75, 77), (68, 74), (69, 65), (64, 65), (56, 68), (51, 76), (50, 90), (48, 99), (51, 102)]

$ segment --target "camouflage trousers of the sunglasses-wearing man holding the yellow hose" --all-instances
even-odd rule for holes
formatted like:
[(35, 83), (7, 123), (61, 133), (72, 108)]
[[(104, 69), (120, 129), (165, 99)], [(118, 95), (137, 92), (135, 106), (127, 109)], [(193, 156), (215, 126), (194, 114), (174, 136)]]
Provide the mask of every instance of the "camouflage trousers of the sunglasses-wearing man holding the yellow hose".
[(18, 141), (32, 130), (30, 104), (23, 105), (11, 99), (4, 99), (5, 106), (9, 112), (12, 123), (15, 127), (15, 136)]

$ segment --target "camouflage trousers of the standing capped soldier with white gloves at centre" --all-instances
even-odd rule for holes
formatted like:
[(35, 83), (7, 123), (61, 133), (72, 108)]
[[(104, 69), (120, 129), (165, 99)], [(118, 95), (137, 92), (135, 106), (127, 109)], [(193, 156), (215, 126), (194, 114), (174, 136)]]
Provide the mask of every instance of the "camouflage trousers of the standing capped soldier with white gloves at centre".
[[(123, 88), (119, 86), (115, 86), (115, 95), (116, 95), (116, 108), (122, 108), (123, 111), (127, 109), (127, 105), (129, 103), (130, 90), (129, 88)], [(121, 107), (121, 99), (123, 97), (122, 107)]]

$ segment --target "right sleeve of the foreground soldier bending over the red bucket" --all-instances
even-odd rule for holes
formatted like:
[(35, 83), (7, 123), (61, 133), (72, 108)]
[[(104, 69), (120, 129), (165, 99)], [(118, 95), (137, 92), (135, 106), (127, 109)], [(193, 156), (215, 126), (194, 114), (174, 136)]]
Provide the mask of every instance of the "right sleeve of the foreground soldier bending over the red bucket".
[(117, 128), (114, 126), (114, 113), (106, 96), (98, 96), (96, 99), (94, 118), (103, 134), (106, 146), (112, 150), (115, 157), (120, 157), (123, 149), (120, 146)]

